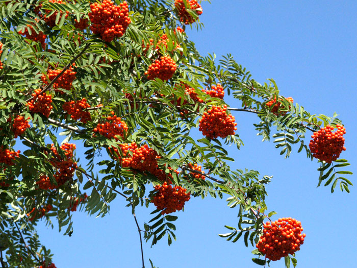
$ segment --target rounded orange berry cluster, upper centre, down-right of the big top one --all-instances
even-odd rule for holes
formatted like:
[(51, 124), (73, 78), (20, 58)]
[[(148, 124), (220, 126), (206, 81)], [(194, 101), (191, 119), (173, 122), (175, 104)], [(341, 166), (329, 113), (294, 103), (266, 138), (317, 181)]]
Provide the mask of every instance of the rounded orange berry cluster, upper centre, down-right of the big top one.
[(174, 72), (176, 71), (176, 63), (169, 56), (161, 57), (160, 60), (155, 60), (148, 70), (145, 71), (147, 79), (154, 80), (155, 78), (160, 78), (161, 80), (169, 80)]

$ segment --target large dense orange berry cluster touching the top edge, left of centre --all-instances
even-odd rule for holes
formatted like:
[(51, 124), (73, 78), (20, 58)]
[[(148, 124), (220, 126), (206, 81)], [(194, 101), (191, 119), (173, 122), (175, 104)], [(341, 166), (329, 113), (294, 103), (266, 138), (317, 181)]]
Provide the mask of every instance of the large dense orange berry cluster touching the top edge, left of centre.
[(124, 1), (119, 6), (110, 0), (104, 0), (101, 4), (90, 5), (89, 19), (92, 22), (90, 30), (93, 34), (100, 34), (106, 42), (111, 42), (115, 37), (121, 37), (129, 26), (129, 8)]

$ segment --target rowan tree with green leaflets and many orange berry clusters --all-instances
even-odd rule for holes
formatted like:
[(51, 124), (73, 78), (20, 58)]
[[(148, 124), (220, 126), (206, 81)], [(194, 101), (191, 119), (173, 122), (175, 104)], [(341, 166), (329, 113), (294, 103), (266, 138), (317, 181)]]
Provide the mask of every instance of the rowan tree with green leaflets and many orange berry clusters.
[[(293, 212), (271, 220), (270, 176), (230, 168), (223, 144), (243, 145), (235, 113), (256, 114), (257, 133), (285, 158), (296, 148), (315, 161), (318, 186), (349, 192), (349, 163), (340, 158), (346, 129), (336, 114), (310, 114), (229, 54), (219, 62), (201, 56), (185, 33), (201, 27), (196, 0), (10, 0), (1, 7), (3, 267), (55, 267), (36, 223), (58, 221), (70, 236), (78, 207), (104, 216), (115, 198), (132, 207), (140, 245), (163, 238), (170, 245), (172, 213), (208, 195), (238, 213), (237, 226), (220, 236), (244, 240), (257, 264), (285, 258), (295, 266), (303, 223)], [(85, 162), (76, 142), (86, 148)], [(27, 150), (19, 152), (19, 143)], [(136, 220), (137, 206), (156, 207), (147, 223)], [(144, 267), (142, 250), (141, 257)]]

